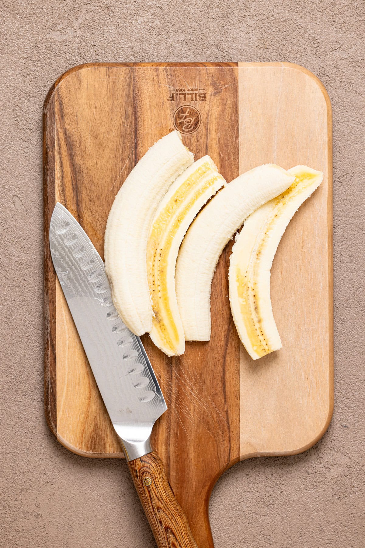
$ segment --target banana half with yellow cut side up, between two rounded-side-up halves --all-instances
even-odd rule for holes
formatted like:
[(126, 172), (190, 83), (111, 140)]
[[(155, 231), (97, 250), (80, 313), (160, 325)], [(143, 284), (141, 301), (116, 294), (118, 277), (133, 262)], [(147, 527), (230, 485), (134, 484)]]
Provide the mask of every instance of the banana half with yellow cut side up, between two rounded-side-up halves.
[(147, 275), (154, 317), (150, 338), (167, 356), (184, 352), (175, 266), (182, 239), (196, 214), (225, 185), (215, 163), (204, 156), (171, 185), (154, 216), (147, 244)]

